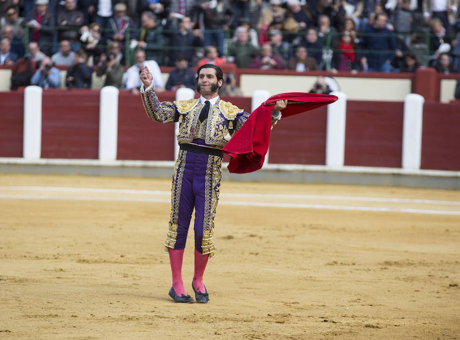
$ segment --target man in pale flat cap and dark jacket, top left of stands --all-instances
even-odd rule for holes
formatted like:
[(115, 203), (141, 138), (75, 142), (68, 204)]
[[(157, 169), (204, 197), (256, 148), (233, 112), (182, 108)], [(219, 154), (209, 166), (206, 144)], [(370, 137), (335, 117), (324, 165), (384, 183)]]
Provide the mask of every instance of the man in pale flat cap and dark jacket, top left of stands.
[(48, 12), (48, 0), (35, 0), (35, 11), (25, 19), (25, 22), (29, 26), (29, 41), (37, 42), (41, 51), (50, 55), (56, 20)]

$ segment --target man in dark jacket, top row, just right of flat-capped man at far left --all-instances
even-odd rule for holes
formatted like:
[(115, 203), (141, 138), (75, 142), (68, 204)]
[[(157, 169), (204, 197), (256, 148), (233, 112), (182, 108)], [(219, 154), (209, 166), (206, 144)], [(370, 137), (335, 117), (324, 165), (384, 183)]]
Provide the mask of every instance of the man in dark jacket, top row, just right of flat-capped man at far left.
[(68, 40), (71, 43), (72, 51), (80, 48), (78, 31), (83, 23), (83, 13), (75, 9), (75, 0), (65, 0), (64, 7), (59, 10), (57, 15), (57, 26), (65, 27), (65, 29), (59, 29), (58, 39), (59, 41)]

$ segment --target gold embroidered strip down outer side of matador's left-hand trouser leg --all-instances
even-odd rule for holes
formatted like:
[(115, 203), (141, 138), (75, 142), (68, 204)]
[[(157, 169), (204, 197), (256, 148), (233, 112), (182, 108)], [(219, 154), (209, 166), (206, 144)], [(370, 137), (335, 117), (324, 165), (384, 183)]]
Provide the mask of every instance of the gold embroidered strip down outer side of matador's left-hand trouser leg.
[(165, 253), (169, 253), (169, 248), (174, 249), (176, 245), (177, 226), (179, 219), (179, 201), (180, 191), (182, 188), (183, 172), (185, 170), (185, 161), (187, 151), (180, 150), (177, 155), (177, 161), (174, 166), (173, 181), (171, 188), (171, 218), (169, 220), (168, 235), (165, 241)]

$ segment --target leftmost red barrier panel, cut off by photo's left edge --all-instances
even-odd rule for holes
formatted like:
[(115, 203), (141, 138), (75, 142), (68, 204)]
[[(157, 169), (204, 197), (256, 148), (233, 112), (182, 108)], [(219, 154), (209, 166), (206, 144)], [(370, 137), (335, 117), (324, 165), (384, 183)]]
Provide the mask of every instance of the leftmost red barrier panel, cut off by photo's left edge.
[(22, 157), (24, 91), (0, 92), (0, 157)]

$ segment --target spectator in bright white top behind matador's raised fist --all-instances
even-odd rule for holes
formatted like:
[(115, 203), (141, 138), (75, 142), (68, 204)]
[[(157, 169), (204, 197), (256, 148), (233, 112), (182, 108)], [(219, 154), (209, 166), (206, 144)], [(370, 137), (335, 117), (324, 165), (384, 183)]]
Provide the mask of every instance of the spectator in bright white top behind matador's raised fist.
[(140, 94), (141, 79), (139, 78), (139, 74), (142, 68), (147, 66), (153, 75), (155, 92), (162, 92), (165, 88), (162, 72), (155, 60), (145, 60), (145, 58), (146, 54), (143, 50), (136, 50), (134, 52), (134, 60), (136, 63), (128, 68), (123, 76), (125, 78), (125, 88), (130, 90), (133, 94)]

